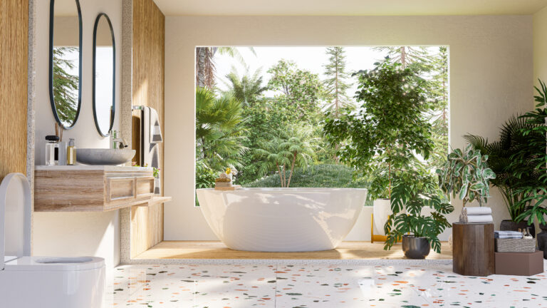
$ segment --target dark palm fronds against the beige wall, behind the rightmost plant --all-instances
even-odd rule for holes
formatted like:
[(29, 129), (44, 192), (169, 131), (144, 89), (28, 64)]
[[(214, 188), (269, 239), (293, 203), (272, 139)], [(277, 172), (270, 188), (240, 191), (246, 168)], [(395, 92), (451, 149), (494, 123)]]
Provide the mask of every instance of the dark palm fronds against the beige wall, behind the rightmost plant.
[[(524, 135), (523, 130), (532, 128), (533, 125), (526, 122), (521, 116), (512, 116), (501, 126), (499, 140), (489, 143), (488, 139), (479, 135), (465, 135), (464, 138), (475, 148), (480, 150), (482, 155), (488, 155), (488, 165), (496, 178), (491, 179), (490, 183), (499, 188), (501, 195), (504, 196), (504, 202), (511, 215), (511, 220), (522, 214), (524, 208), (529, 202), (519, 202), (523, 200), (523, 193), (516, 193), (517, 190), (526, 186), (528, 178), (539, 178), (539, 175), (531, 167), (526, 159), (517, 159), (514, 153), (518, 153), (522, 148), (528, 147), (528, 136)], [(541, 135), (541, 134), (540, 134)], [(528, 168), (528, 177), (520, 177), (517, 170)], [(517, 206), (518, 205), (518, 206)]]

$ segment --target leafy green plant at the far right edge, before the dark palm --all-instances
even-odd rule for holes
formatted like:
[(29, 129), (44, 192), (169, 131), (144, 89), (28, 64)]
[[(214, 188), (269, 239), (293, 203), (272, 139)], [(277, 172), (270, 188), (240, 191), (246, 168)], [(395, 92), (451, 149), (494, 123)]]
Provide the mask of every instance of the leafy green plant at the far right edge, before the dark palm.
[(528, 225), (533, 224), (534, 217), (538, 222), (546, 223), (543, 215), (547, 215), (547, 87), (543, 81), (539, 83), (541, 88), (535, 87), (538, 92), (534, 96), (536, 109), (521, 116), (530, 125), (522, 129), (528, 143), (511, 156), (511, 167), (518, 165), (516, 174), (526, 182), (515, 191), (526, 196), (516, 202), (517, 207), (524, 207), (516, 220), (527, 219)]

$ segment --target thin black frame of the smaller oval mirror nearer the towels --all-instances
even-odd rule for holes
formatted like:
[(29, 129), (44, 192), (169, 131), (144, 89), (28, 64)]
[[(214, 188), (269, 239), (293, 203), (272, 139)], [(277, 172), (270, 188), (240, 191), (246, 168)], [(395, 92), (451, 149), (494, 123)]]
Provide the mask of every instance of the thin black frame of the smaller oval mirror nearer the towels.
[[(96, 102), (95, 102), (95, 62), (97, 60), (97, 28), (99, 26), (99, 21), (101, 17), (105, 17), (106, 21), (108, 22), (108, 26), (110, 27), (110, 36), (112, 36), (112, 113), (110, 114), (110, 126), (108, 128), (107, 133), (103, 133), (100, 131), (99, 127), (99, 120), (97, 115), (97, 108), (96, 108)], [(99, 135), (102, 135), (103, 137), (108, 137), (110, 130), (112, 130), (114, 125), (114, 118), (116, 115), (116, 42), (114, 38), (114, 29), (112, 28), (112, 23), (110, 22), (110, 18), (105, 13), (98, 14), (97, 18), (95, 19), (95, 25), (93, 26), (93, 119), (95, 120), (95, 128), (97, 128), (97, 131)]]

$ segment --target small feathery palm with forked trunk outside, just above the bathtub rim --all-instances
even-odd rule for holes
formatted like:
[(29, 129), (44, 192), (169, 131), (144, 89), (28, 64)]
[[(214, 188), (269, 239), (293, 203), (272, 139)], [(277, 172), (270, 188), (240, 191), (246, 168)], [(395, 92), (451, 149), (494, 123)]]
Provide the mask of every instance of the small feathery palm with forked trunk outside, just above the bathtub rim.
[[(281, 187), (288, 188), (295, 166), (306, 168), (316, 155), (317, 138), (311, 132), (311, 128), (293, 126), (256, 149), (261, 157), (261, 174), (277, 172)], [(288, 178), (287, 168), (290, 168)]]

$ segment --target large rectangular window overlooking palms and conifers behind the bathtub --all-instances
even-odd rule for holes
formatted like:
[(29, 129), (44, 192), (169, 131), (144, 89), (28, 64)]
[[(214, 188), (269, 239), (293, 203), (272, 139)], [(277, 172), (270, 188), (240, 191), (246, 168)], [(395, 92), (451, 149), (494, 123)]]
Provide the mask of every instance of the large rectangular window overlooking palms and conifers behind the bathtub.
[[(387, 197), (385, 178), (397, 170), (383, 163), (391, 160), (380, 159), (382, 152), (366, 158), (377, 159), (367, 168), (353, 163), (355, 159), (348, 159), (352, 139), (333, 138), (343, 133), (333, 125), (352, 115), (352, 123), (367, 117), (373, 112), (367, 111), (371, 97), (388, 93), (386, 108), (396, 106), (396, 90), (386, 91), (392, 85), (416, 92), (418, 123), (427, 130), (421, 137), (429, 140), (427, 153), (413, 150), (407, 167), (433, 174), (446, 158), (446, 46), (198, 47), (196, 61), (198, 188), (212, 187), (218, 173), (229, 167), (239, 171), (235, 183), (247, 187), (372, 185), (374, 197)], [(408, 84), (391, 83), (378, 77), (390, 70), (407, 70), (407, 76), (421, 81), (403, 77)], [(392, 148), (406, 147), (400, 143)]]

